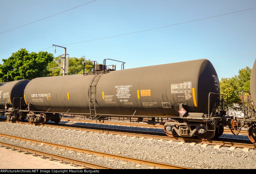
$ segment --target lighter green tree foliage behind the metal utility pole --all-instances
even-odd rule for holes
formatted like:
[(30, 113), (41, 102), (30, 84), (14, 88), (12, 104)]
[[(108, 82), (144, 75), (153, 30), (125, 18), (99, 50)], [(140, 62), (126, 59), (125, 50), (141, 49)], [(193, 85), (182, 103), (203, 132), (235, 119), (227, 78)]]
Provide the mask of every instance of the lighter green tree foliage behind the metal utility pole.
[[(61, 56), (56, 57), (55, 59), (60, 59)], [(91, 61), (91, 60), (87, 60), (85, 58), (76, 58), (76, 57), (70, 57), (69, 58), (69, 68), (68, 68), (68, 75), (73, 75), (73, 74), (83, 74), (83, 63), (87, 62), (87, 61)], [(58, 60), (58, 62), (60, 63), (60, 60)], [(93, 69), (93, 65), (92, 63), (90, 63), (91, 65), (86, 65), (85, 66), (85, 70), (84, 72), (90, 72)], [(51, 76), (62, 76), (62, 74), (60, 74), (60, 67), (56, 68), (56, 69), (51, 69), (54, 67), (58, 67), (58, 64), (55, 61), (52, 61), (49, 63), (47, 69), (50, 71)], [(66, 74), (65, 74), (66, 75)]]

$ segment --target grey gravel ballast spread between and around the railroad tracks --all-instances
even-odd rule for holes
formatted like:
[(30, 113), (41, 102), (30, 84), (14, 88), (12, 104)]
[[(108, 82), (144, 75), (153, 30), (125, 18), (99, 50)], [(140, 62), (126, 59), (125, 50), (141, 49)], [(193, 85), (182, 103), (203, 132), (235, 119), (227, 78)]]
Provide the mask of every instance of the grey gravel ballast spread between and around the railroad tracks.
[[(63, 123), (63, 122), (60, 122)], [(67, 123), (67, 122), (65, 122)], [(68, 122), (68, 124), (83, 124), (77, 122)], [(92, 124), (97, 125), (98, 124)], [(88, 125), (86, 125), (88, 126)], [(90, 125), (91, 126), (91, 125)], [(110, 125), (108, 125), (110, 126)], [(112, 127), (112, 125), (111, 125)], [(112, 127), (115, 128), (115, 127)], [(127, 127), (125, 127), (127, 128)], [(128, 127), (141, 130), (138, 127)], [(142, 128), (145, 129), (145, 128)], [(146, 128), (148, 129), (148, 128)], [(153, 128), (152, 130), (162, 132), (162, 129)], [(149, 131), (152, 131), (151, 129)], [(229, 147), (215, 149), (214, 145), (203, 147), (201, 144), (191, 146), (190, 143), (179, 144), (179, 142), (158, 141), (156, 139), (140, 139), (130, 136), (116, 136), (102, 133), (90, 133), (83, 131), (72, 131), (64, 129), (53, 129), (50, 127), (39, 127), (31, 125), (22, 125), (14, 123), (0, 122), (0, 132), (3, 134), (15, 135), (25, 138), (31, 138), (46, 142), (85, 148), (100, 152), (118, 154), (134, 158), (157, 161), (161, 163), (185, 166), (197, 169), (251, 169), (256, 168), (254, 161), (256, 150), (242, 151), (242, 148), (229, 150)], [(222, 137), (234, 138), (232, 134), (223, 134)], [(246, 135), (240, 135), (240, 139), (248, 139)], [(24, 143), (7, 138), (1, 138), (0, 141), (10, 142), (20, 146), (31, 147), (34, 149), (47, 151), (50, 153), (61, 154), (71, 158), (76, 158), (93, 163), (111, 166), (120, 169), (146, 169), (149, 166), (136, 165), (134, 163), (125, 163), (118, 159), (99, 158), (99, 156), (88, 157), (88, 154), (69, 153), (68, 150), (60, 151), (60, 148), (52, 149), (49, 146), (39, 146), (33, 143)]]

